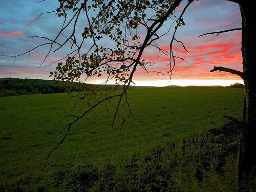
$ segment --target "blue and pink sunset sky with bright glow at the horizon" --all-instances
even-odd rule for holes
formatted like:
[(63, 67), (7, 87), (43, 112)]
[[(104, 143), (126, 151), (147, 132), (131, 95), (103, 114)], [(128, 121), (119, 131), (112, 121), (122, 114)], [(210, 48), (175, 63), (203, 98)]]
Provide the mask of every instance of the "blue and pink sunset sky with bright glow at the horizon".
[[(33, 18), (42, 12), (57, 8), (57, 0), (46, 0), (37, 4), (38, 0), (0, 0), (0, 53), (1, 55), (16, 55), (30, 50), (39, 45), (41, 40), (31, 39), (30, 36), (53, 37), (61, 27), (61, 19), (54, 14), (43, 15), (37, 22), (26, 27)], [(187, 1), (183, 1), (186, 3)], [(181, 4), (177, 16), (184, 8)], [(225, 72), (210, 73), (214, 66), (228, 67), (242, 71), (241, 31), (233, 31), (216, 35), (198, 37), (200, 34), (241, 27), (239, 6), (224, 0), (200, 0), (189, 6), (184, 14), (185, 26), (178, 29), (176, 38), (182, 40), (188, 52), (180, 44), (174, 45), (175, 54), (186, 60), (177, 60), (177, 65), (172, 74), (160, 75), (153, 71), (166, 71), (168, 57), (157, 50), (147, 49), (143, 58), (155, 63), (146, 73), (138, 69), (134, 76), (137, 86), (228, 86), (234, 82), (242, 82), (236, 75)], [(79, 23), (83, 29), (84, 22)], [(162, 32), (169, 28), (170, 23), (163, 26)], [(78, 30), (79, 32), (79, 30)], [(168, 50), (172, 30), (161, 38), (157, 44)], [(145, 32), (138, 32), (141, 38)], [(160, 31), (161, 33), (161, 31)], [(108, 45), (102, 41), (101, 44)], [(61, 58), (68, 48), (51, 54), (44, 65), (44, 59), (49, 47), (42, 47), (30, 54), (17, 57), (0, 56), (0, 78), (41, 78), (51, 79), (49, 73), (55, 70), (56, 65), (49, 66), (51, 60)], [(101, 83), (102, 78), (91, 78), (89, 83)], [(114, 82), (110, 82), (114, 83)]]

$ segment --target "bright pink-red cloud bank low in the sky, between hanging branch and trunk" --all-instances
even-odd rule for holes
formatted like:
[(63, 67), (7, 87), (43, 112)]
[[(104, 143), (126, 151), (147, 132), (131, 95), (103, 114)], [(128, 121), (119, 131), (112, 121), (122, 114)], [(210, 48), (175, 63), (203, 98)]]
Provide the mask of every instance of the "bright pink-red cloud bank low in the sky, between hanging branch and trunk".
[[(205, 36), (197, 40), (184, 42), (188, 52), (180, 44), (173, 47), (176, 56), (184, 58), (187, 63), (181, 59), (176, 59), (175, 69), (173, 71), (174, 79), (239, 79), (237, 75), (209, 71), (216, 66), (223, 66), (242, 71), (241, 54), (241, 33), (227, 33), (216, 36)], [(164, 50), (169, 50), (169, 45), (161, 45)], [(150, 73), (143, 70), (136, 71), (138, 78), (168, 78), (169, 74), (159, 74), (159, 77), (153, 71), (167, 72), (169, 66), (167, 55), (161, 54), (158, 57), (158, 50), (148, 50), (150, 54), (143, 55), (146, 61), (153, 61), (154, 66), (148, 66)]]

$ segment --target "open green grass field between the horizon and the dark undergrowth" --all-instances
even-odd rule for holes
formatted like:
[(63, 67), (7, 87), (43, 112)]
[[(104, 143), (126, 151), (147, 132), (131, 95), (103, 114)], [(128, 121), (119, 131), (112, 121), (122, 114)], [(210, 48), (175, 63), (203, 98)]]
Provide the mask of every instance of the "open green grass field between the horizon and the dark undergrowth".
[(87, 108), (86, 101), (76, 107), (72, 94), (0, 98), (0, 186), (4, 189), (22, 183), (37, 190), (39, 180), (50, 183), (61, 170), (87, 164), (98, 169), (107, 163), (121, 167), (127, 159), (143, 157), (151, 148), (222, 126), (227, 122), (222, 115), (242, 117), (243, 89), (172, 87), (128, 92), (132, 116), (121, 132), (119, 120), (111, 127), (113, 100), (112, 105), (102, 104), (74, 124), (48, 160), (49, 151), (73, 120), (64, 116), (80, 115)]

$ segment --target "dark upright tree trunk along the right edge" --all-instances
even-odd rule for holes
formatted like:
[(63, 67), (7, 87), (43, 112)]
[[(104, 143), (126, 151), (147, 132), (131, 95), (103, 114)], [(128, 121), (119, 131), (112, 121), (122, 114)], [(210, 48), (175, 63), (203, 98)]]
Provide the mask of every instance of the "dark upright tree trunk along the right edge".
[(239, 157), (239, 191), (251, 191), (256, 173), (256, 23), (254, 6), (251, 2), (242, 2), (240, 11), (245, 98)]

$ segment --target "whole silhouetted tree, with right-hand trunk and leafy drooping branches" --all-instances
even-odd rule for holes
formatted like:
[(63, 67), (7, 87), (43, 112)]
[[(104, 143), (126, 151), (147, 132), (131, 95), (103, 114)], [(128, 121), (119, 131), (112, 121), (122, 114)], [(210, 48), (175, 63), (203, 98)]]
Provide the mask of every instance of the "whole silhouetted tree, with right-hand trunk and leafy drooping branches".
[[(42, 2), (45, 0), (41, 0)], [(129, 118), (132, 111), (127, 98), (127, 88), (133, 83), (133, 76), (138, 67), (147, 71), (148, 65), (154, 63), (142, 59), (142, 55), (147, 47), (154, 47), (158, 53), (168, 54), (169, 70), (166, 72), (157, 71), (157, 73), (170, 74), (172, 76), (176, 59), (182, 59), (174, 53), (174, 42), (182, 45), (185, 51), (185, 45), (181, 40), (176, 39), (176, 32), (181, 25), (184, 25), (183, 15), (189, 5), (195, 0), (184, 0), (187, 5), (181, 14), (175, 15), (176, 8), (182, 0), (160, 0), (160, 1), (136, 1), (136, 0), (58, 0), (59, 7), (51, 12), (63, 18), (63, 25), (54, 39), (41, 36), (33, 36), (32, 38), (43, 38), (46, 40), (44, 44), (23, 53), (24, 55), (41, 46), (50, 46), (49, 52), (45, 59), (53, 51), (56, 52), (67, 44), (71, 44), (71, 52), (65, 57), (54, 62), (58, 62), (57, 71), (51, 72), (51, 76), (59, 80), (74, 81), (82, 75), (87, 78), (91, 76), (106, 76), (105, 83), (111, 79), (115, 79), (117, 84), (123, 85), (123, 91), (116, 95), (109, 95), (108, 92), (101, 96), (101, 100), (91, 105), (90, 108), (80, 116), (74, 117), (74, 121), (68, 124), (68, 132), (60, 141), (59, 145), (68, 135), (72, 124), (94, 109), (100, 103), (117, 97), (117, 108), (113, 118), (113, 125), (117, 113), (124, 106), (129, 110), (129, 114), (123, 117), (123, 122)], [(253, 6), (248, 1), (228, 0), (240, 5), (242, 16), (242, 28), (228, 29), (224, 31), (210, 32), (207, 34), (219, 34), (228, 31), (242, 30), (242, 56), (243, 56), (243, 72), (224, 68), (214, 67), (210, 72), (224, 71), (240, 76), (245, 84), (245, 98), (243, 109), (243, 120), (228, 117), (242, 124), (241, 130), (241, 146), (239, 159), (239, 185), (240, 191), (249, 190), (250, 182), (255, 176), (256, 158), (253, 154), (256, 151), (255, 143), (255, 124), (256, 124), (256, 36), (254, 35), (254, 15)], [(46, 13), (42, 13), (46, 14)], [(36, 21), (40, 16), (36, 17), (32, 22)], [(86, 19), (87, 26), (81, 33), (82, 40), (77, 36), (77, 25), (80, 18)], [(168, 32), (159, 34), (159, 29), (163, 25), (169, 24), (169, 20), (174, 20), (175, 24), (172, 38), (170, 39), (169, 51), (161, 49), (157, 45), (157, 40), (165, 36)], [(72, 29), (70, 30), (70, 27)], [(172, 27), (172, 25), (170, 25)], [(145, 37), (141, 37), (136, 33), (137, 29), (144, 28), (146, 30)], [(67, 35), (68, 33), (68, 35)], [(202, 35), (200, 35), (202, 36)], [(60, 37), (65, 37), (62, 40)], [(108, 39), (112, 42), (109, 47), (100, 46), (100, 40)], [(62, 40), (62, 41), (61, 41)], [(87, 44), (87, 50), (84, 51), (84, 44)], [(90, 46), (89, 46), (90, 45)], [(13, 55), (16, 57), (19, 55)], [(44, 62), (45, 59), (42, 61)], [(65, 63), (60, 62), (65, 59)], [(87, 79), (86, 78), (86, 79)], [(53, 151), (59, 146), (57, 145)], [(52, 152), (53, 152), (52, 151)], [(51, 152), (51, 153), (52, 153)], [(51, 154), (50, 153), (50, 154)], [(50, 155), (49, 154), (49, 155)]]

